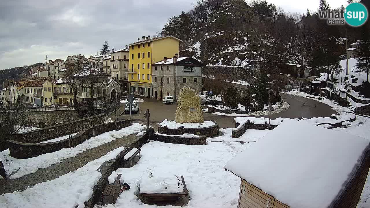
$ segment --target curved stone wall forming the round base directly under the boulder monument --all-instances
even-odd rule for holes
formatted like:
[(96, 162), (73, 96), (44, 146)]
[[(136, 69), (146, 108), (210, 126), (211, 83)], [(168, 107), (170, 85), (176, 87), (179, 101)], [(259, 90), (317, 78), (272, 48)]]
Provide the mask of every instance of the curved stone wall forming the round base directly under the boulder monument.
[(214, 137), (219, 134), (219, 125), (215, 124), (204, 128), (167, 128), (158, 126), (159, 134), (181, 135), (181, 134), (195, 134), (205, 137)]

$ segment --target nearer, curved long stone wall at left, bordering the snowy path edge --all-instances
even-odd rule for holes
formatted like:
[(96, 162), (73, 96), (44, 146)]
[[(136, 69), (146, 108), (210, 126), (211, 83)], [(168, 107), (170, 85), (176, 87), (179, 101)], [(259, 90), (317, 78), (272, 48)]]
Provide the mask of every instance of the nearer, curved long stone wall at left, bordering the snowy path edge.
[(76, 135), (74, 135), (71, 139), (64, 139), (55, 142), (49, 143), (24, 143), (14, 140), (9, 140), (9, 151), (10, 156), (15, 157), (18, 159), (25, 159), (36, 157), (38, 155), (55, 152), (61, 150), (63, 148), (70, 148), (76, 146), (78, 144), (83, 143), (84, 141), (90, 139), (94, 135), (99, 135), (107, 131), (117, 130), (120, 128), (125, 128), (131, 125), (131, 120), (122, 120), (117, 121), (117, 129), (116, 124), (114, 122), (110, 123), (102, 123), (95, 125), (95, 127), (88, 127), (84, 130), (81, 130)]

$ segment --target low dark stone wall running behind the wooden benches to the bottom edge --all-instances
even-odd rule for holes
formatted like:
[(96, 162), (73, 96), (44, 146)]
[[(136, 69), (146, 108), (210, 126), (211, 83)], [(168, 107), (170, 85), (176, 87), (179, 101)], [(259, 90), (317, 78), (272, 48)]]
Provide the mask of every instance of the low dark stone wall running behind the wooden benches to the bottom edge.
[[(141, 148), (143, 144), (147, 143), (148, 136), (144, 134), (139, 140), (126, 147), (117, 157), (110, 161), (106, 161), (100, 165), (97, 169), (101, 173), (101, 178), (98, 183), (92, 188), (92, 196), (85, 202), (85, 208), (93, 208), (95, 204), (101, 202), (101, 192), (107, 184), (108, 177), (112, 174), (112, 171), (123, 167), (123, 157), (133, 148)], [(133, 184), (130, 184), (133, 185)]]

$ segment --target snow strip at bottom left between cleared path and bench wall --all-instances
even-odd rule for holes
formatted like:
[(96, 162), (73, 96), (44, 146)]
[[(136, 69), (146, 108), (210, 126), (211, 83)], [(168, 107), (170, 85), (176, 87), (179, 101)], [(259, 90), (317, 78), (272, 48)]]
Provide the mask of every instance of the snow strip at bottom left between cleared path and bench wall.
[(73, 172), (22, 192), (0, 195), (0, 207), (85, 207), (84, 202), (91, 197), (92, 188), (101, 178), (101, 173), (96, 170), (123, 150), (124, 147), (119, 147)]

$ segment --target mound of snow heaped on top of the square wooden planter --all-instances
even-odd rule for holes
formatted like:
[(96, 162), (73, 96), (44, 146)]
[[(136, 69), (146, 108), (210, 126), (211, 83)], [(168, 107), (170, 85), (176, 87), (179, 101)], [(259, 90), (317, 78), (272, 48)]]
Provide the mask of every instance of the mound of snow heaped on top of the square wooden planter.
[(141, 176), (140, 193), (177, 194), (184, 192), (181, 177), (168, 172), (154, 172), (152, 177), (145, 174)]

